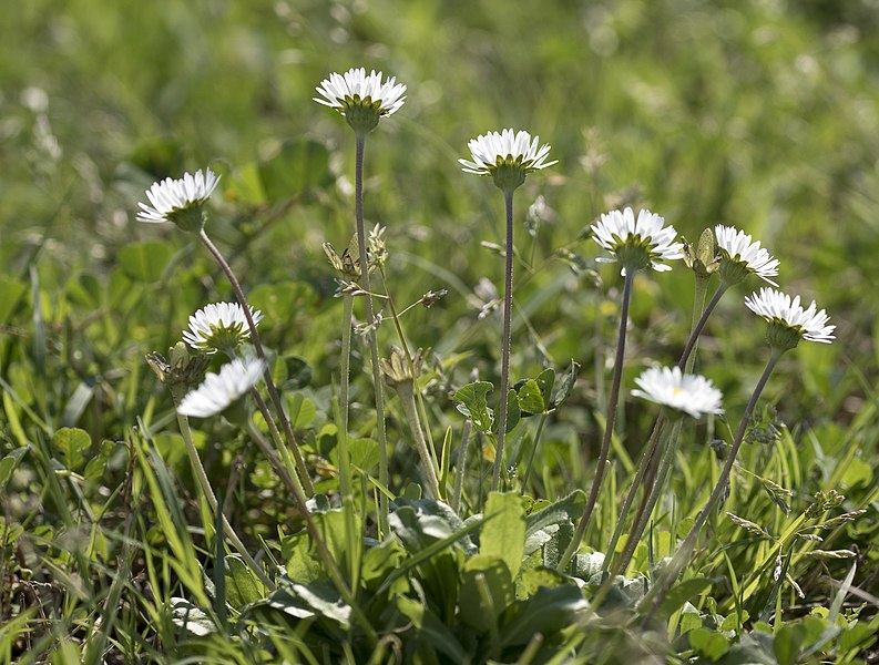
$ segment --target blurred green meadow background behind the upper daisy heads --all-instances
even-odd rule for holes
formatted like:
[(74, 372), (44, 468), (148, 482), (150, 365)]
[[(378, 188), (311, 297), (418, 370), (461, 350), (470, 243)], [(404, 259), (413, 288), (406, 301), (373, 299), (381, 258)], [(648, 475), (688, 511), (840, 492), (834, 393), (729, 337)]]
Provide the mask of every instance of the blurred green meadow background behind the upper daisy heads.
[[(401, 305), (449, 289), (405, 320), (413, 345), (468, 355), (452, 382), (473, 367), (494, 378), (498, 321), (477, 318), (477, 285), (502, 274), (480, 245), (501, 241), (500, 194), (457, 158), (476, 135), (513, 126), (559, 160), (517, 194), (529, 325), (520, 316), (515, 378), (574, 358), (573, 403), (586, 408), (570, 418), (582, 427), (601, 406), (620, 279), (578, 237), (631, 204), (692, 241), (718, 223), (762, 239), (783, 289), (838, 325), (832, 347), (787, 357), (767, 398), (783, 398), (788, 423), (875, 422), (877, 22), (875, 0), (20, 3), (0, 22), (0, 369), (24, 393), (34, 376), (51, 379), (32, 390), (38, 411), (98, 437), (151, 400), (168, 408), (143, 354), (231, 293), (201, 247), (134, 214), (154, 180), (211, 165), (224, 175), (209, 232), (267, 310), (269, 344), (327, 385), (340, 305), (320, 244), (343, 247), (352, 229), (354, 142), (311, 98), (329, 72), (364, 65), (409, 86), (367, 144), (367, 223), (388, 226)], [(285, 142), (303, 139), (327, 146), (329, 175), (323, 153), (284, 161)], [(550, 212), (532, 238), (523, 223), (538, 195)], [(757, 286), (727, 295), (702, 345), (735, 413), (766, 356), (743, 306)], [(676, 358), (691, 307), (683, 265), (637, 282), (627, 385), (648, 358)]]

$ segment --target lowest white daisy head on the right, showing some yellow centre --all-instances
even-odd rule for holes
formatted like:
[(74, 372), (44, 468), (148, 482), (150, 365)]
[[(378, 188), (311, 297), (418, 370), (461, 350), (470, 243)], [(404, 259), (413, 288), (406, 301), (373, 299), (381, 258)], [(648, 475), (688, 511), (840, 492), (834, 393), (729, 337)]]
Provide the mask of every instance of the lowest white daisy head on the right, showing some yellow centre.
[(704, 413), (723, 413), (723, 395), (711, 379), (699, 375), (685, 375), (679, 367), (651, 367), (635, 379), (635, 397), (683, 411), (693, 418)]

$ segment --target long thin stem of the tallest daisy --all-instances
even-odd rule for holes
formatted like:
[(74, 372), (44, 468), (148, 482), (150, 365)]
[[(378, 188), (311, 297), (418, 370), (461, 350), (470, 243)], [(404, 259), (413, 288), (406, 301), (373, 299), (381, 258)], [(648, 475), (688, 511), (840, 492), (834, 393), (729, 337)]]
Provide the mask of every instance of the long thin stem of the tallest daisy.
[[(360, 275), (364, 289), (370, 293), (369, 287), (369, 257), (366, 254), (366, 232), (364, 229), (364, 145), (366, 134), (356, 132), (355, 153), (355, 216), (357, 218), (357, 246), (360, 253)], [(372, 386), (376, 392), (376, 426), (378, 434), (378, 481), (381, 487), (388, 487), (388, 444), (385, 436), (385, 399), (381, 392), (381, 370), (378, 365), (378, 340), (376, 339), (375, 315), (372, 313), (372, 296), (364, 298), (366, 303), (366, 323), (369, 329), (369, 352), (372, 359)], [(378, 532), (381, 539), (388, 535), (388, 498), (385, 492), (378, 495)]]

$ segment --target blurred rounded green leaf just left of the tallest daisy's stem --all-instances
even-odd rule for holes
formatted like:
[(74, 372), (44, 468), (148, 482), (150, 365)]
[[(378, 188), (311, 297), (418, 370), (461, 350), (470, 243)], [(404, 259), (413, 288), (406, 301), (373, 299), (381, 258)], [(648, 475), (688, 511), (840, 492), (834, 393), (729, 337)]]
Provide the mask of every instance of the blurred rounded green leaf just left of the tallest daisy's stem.
[(333, 183), (329, 150), (311, 139), (290, 139), (258, 166), (263, 192), (274, 205)]

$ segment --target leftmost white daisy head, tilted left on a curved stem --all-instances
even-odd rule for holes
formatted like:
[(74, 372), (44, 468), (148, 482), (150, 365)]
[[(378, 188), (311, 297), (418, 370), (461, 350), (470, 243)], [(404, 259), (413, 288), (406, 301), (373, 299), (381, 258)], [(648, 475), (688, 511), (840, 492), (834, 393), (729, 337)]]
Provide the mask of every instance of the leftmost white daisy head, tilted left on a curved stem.
[(183, 231), (198, 233), (204, 225), (204, 204), (217, 186), (219, 176), (209, 168), (181, 178), (166, 177), (146, 190), (150, 205), (139, 203), (137, 222), (172, 222)]

